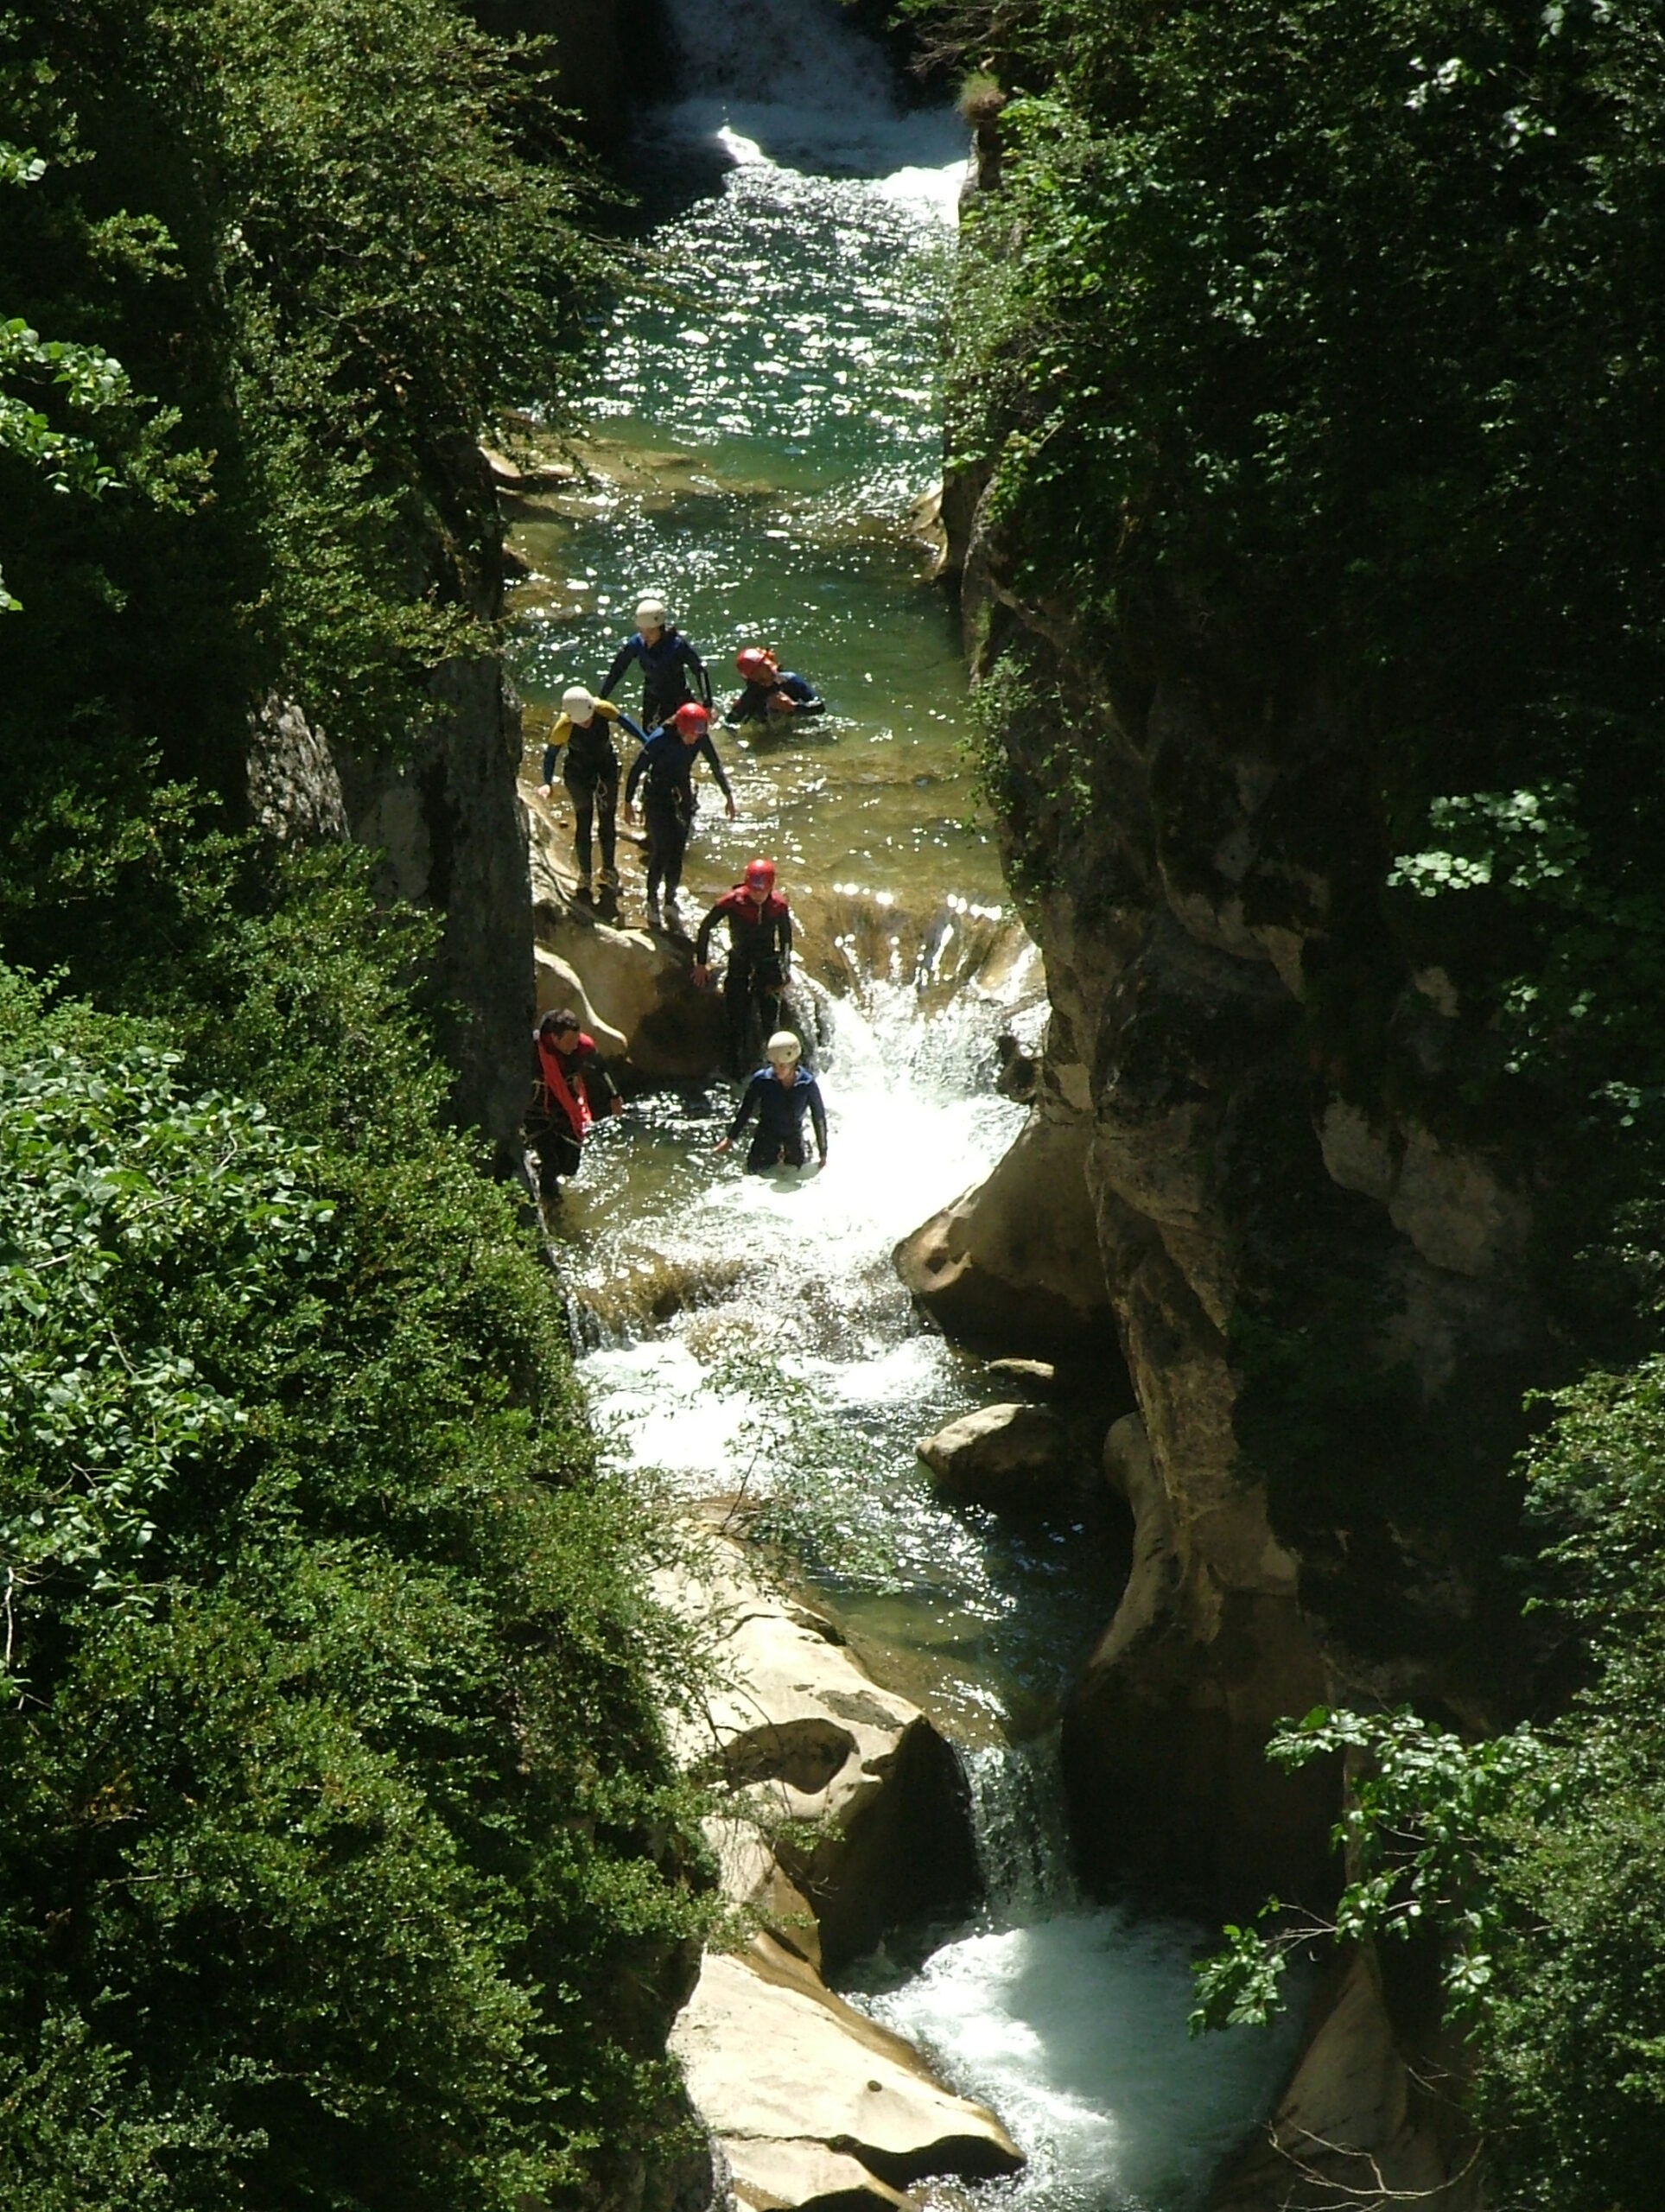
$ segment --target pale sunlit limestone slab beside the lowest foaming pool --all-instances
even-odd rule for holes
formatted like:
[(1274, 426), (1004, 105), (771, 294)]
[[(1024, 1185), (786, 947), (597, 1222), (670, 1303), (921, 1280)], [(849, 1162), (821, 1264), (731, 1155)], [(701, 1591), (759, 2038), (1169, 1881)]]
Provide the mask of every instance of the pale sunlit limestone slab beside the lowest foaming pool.
[(807, 2143), (842, 2152), (889, 2190), (1024, 2163), (986, 2106), (946, 2090), (909, 2044), (814, 1984), (767, 1938), (739, 1958), (708, 1955), (670, 2048), (736, 2181), (772, 2181), (774, 2203), (814, 2203), (785, 2194), (781, 2183), (794, 2179), (825, 2190)]

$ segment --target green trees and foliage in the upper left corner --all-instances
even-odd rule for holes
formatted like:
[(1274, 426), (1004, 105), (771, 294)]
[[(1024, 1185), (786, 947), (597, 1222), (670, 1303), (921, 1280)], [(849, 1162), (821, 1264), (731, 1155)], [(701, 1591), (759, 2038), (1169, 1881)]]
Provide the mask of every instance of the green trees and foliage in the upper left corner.
[(604, 261), (537, 49), (449, 0), (0, 13), (0, 929), (86, 984), (111, 889), (172, 940), (181, 792), (241, 818), (252, 703), (400, 752), (491, 650), (475, 440), (559, 411)]

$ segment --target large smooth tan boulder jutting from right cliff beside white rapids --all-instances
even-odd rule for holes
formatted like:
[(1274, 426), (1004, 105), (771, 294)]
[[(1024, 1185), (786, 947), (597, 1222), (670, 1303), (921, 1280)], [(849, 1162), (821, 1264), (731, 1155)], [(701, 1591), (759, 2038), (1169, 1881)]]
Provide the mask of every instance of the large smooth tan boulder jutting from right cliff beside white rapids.
[(902, 1281), (949, 1336), (1037, 1358), (1097, 1347), (1119, 1363), (1090, 1139), (1090, 1121), (1035, 1115), (986, 1183), (896, 1248)]

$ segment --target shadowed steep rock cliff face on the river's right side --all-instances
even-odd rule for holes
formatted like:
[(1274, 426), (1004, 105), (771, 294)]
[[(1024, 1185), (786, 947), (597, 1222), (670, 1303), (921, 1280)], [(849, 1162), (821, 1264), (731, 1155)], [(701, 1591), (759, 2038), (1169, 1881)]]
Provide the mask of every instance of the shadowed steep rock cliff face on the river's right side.
[(966, 489), (973, 666), (1033, 677), (1002, 703), (1002, 827), (1046, 953), (1050, 1113), (1083, 1102), (1139, 1398), (1110, 1451), (1139, 1564), (1066, 1732), (1077, 1834), (1101, 1871), (1225, 1907), (1316, 1896), (1336, 1776), (1274, 1774), (1278, 1719), (1519, 1697), (1486, 1562), (1546, 1349), (1530, 1192), (1459, 1135), (1448, 980), (1384, 982), (1344, 721), (1022, 604)]

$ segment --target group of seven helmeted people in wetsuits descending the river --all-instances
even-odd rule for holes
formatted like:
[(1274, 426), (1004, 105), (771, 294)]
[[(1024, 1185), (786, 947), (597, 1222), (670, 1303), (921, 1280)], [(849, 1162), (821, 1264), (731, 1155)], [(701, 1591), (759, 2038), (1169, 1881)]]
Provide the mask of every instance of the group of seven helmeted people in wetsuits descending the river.
[[(544, 745), (540, 796), (548, 799), (559, 768), (566, 796), (573, 801), (573, 856), (577, 860), (579, 900), (590, 900), (595, 845), (601, 847), (599, 889), (617, 914), (617, 814), (619, 776), (624, 772), (615, 748), (615, 730), (624, 728), (637, 741), (637, 757), (624, 787), (624, 818), (641, 825), (648, 849), (648, 925), (661, 927), (666, 914), (677, 918), (688, 836), (699, 812), (694, 770), (703, 759), (723, 794), (727, 818), (734, 821), (721, 754), (712, 743), (712, 684), (705, 661), (688, 637), (668, 619), (663, 599), (637, 604), (637, 628), (619, 646), (601, 690), (573, 684), (562, 695), (562, 712)], [(612, 703), (610, 692), (632, 666), (641, 666), (641, 721)], [(727, 728), (785, 714), (820, 714), (825, 701), (807, 677), (783, 670), (767, 646), (745, 646), (734, 657), (745, 688), (730, 701)], [(699, 697), (694, 697), (699, 692)], [(756, 1137), (745, 1157), (747, 1172), (765, 1168), (803, 1168), (807, 1161), (805, 1117), (814, 1128), (820, 1166), (827, 1164), (827, 1110), (820, 1084), (803, 1064), (803, 1024), (792, 1009), (792, 909), (776, 889), (774, 860), (747, 863), (745, 876), (710, 907), (694, 940), (692, 982), (710, 984), (712, 938), (727, 931), (723, 967), (723, 1011), (727, 1022), (727, 1062), (736, 1077), (747, 1077), (763, 1048), (763, 1066), (750, 1073), (739, 1110), (727, 1135), (716, 1144), (727, 1152), (752, 1115)], [(767, 1042), (763, 1042), (767, 1037)], [(526, 1110), (526, 1141), (537, 1159), (537, 1181), (544, 1197), (559, 1192), (562, 1177), (577, 1175), (584, 1137), (599, 1113), (615, 1115), (624, 1106), (619, 1088), (601, 1062), (595, 1040), (584, 1031), (573, 1009), (546, 1013), (533, 1040), (533, 1102)]]

